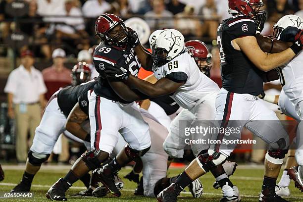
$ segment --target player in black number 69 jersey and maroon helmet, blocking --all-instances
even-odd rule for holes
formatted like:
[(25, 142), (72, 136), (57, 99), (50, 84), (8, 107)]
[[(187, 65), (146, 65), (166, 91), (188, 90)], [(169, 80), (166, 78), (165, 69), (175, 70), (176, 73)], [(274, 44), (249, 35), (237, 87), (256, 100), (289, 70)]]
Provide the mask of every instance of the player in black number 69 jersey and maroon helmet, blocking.
[[(102, 166), (118, 141), (118, 132), (128, 144), (113, 160), (102, 166), (99, 177), (106, 189), (119, 197), (121, 193), (113, 180), (115, 173), (134, 158), (143, 156), (151, 146), (149, 126), (134, 102), (139, 99), (130, 99), (131, 96), (141, 98), (144, 95), (140, 93), (140, 97), (139, 92), (132, 91), (123, 82), (104, 75), (104, 70), (115, 64), (129, 69), (134, 76), (138, 75), (141, 65), (128, 43), (128, 29), (121, 18), (106, 13), (97, 18), (95, 30), (101, 43), (93, 55), (100, 75), (89, 100), (92, 151), (82, 155), (67, 175), (50, 188), (48, 197), (52, 200), (66, 200), (65, 192), (74, 182)], [(123, 90), (122, 96), (115, 93), (116, 89)]]

